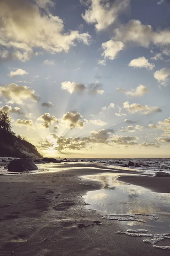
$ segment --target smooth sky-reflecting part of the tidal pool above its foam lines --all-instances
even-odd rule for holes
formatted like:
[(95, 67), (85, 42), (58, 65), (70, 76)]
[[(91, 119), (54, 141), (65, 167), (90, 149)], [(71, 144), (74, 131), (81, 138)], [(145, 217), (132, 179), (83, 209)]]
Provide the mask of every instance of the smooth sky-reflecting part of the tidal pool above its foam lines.
[(151, 192), (141, 186), (116, 180), (117, 177), (118, 175), (113, 173), (85, 176), (104, 183), (103, 189), (86, 194), (85, 201), (90, 204), (88, 209), (96, 209), (103, 214), (170, 212), (168, 193)]

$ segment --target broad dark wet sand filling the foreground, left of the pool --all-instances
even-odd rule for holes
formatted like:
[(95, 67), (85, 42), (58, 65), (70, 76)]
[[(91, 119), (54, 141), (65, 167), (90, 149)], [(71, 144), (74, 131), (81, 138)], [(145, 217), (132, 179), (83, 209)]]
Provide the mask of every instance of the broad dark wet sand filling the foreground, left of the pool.
[(87, 209), (82, 196), (103, 184), (79, 175), (116, 170), (78, 166), (65, 164), (63, 172), (60, 165), (61, 172), (0, 176), (1, 256), (169, 255), (169, 250), (154, 249), (142, 238), (117, 235), (116, 231), (125, 231), (120, 223)]

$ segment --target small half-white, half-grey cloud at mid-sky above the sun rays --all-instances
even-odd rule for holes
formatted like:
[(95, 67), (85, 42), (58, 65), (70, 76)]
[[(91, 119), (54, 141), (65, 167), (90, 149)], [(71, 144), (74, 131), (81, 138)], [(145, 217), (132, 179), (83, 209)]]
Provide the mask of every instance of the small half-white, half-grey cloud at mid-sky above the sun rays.
[(87, 89), (87, 87), (84, 84), (70, 82), (70, 81), (62, 82), (61, 88), (62, 90), (67, 90), (70, 94), (74, 92), (83, 93)]

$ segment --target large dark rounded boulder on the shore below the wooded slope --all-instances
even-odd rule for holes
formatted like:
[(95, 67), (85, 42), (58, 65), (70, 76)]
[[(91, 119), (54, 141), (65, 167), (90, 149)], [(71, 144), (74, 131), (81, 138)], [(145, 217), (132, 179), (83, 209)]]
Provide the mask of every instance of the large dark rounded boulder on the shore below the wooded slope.
[(29, 158), (15, 159), (8, 164), (9, 172), (25, 172), (25, 171), (34, 171), (37, 169), (38, 167)]

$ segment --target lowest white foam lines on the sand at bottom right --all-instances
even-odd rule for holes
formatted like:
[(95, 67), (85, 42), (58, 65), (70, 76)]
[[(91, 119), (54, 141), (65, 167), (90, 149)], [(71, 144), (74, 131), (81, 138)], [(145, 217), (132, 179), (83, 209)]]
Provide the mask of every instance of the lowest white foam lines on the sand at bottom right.
[(155, 245), (159, 241), (163, 241), (165, 239), (170, 239), (170, 234), (138, 234), (141, 232), (148, 232), (147, 230), (141, 231), (141, 230), (127, 230), (127, 232), (117, 231), (115, 233), (117, 234), (126, 234), (127, 236), (137, 236), (137, 237), (150, 237), (152, 239), (144, 239), (144, 243), (152, 244), (154, 248), (156, 249), (163, 249), (163, 250), (170, 250), (170, 246), (161, 246), (161, 245)]

